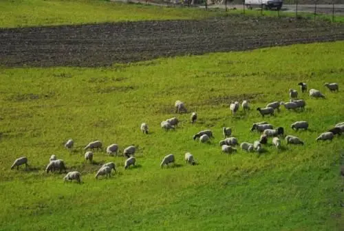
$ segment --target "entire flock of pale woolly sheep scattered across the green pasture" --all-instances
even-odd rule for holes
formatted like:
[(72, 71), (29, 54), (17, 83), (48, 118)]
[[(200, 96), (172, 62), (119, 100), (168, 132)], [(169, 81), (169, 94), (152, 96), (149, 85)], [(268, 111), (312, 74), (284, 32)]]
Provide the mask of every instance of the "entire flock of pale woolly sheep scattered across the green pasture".
[[(306, 83), (299, 83), (298, 84), (301, 87), (301, 92), (305, 93), (307, 92), (307, 84)], [(326, 86), (331, 92), (337, 91), (338, 92), (338, 83), (325, 83), (324, 86)], [(323, 98), (325, 99), (325, 95), (321, 93), (319, 90), (310, 89), (309, 95), (312, 98)], [(262, 117), (265, 115), (274, 115), (275, 110), (280, 111), (280, 106), (283, 105), (287, 110), (297, 110), (301, 109), (303, 110), (305, 108), (305, 101), (303, 99), (297, 99), (298, 98), (298, 92), (297, 90), (290, 89), (289, 90), (289, 96), (290, 101), (289, 102), (280, 102), (275, 101), (272, 103), (268, 103), (265, 108), (257, 108), (259, 113)], [(239, 110), (239, 102), (231, 102), (230, 103), (230, 110), (233, 114), (235, 114)], [(241, 103), (241, 108), (243, 110), (250, 110), (250, 106), (248, 101), (244, 100)], [(175, 101), (175, 112), (177, 113), (186, 113), (186, 107), (182, 101)], [(195, 123), (197, 120), (197, 113), (193, 112), (191, 114), (191, 123)], [(162, 121), (160, 123), (161, 128), (164, 130), (175, 130), (175, 128), (178, 127), (179, 120), (176, 117), (173, 117), (171, 119), (167, 119), (166, 121)], [(308, 122), (307, 121), (296, 121), (292, 123), (291, 125), (292, 130), (299, 130), (299, 129), (308, 129)], [(149, 133), (149, 127), (147, 123), (142, 123), (140, 126), (140, 130), (144, 134)], [(268, 143), (268, 139), (272, 138), (272, 144), (275, 145), (277, 148), (281, 148), (281, 139), (279, 137), (284, 136), (284, 128), (278, 127), (273, 128), (273, 126), (270, 123), (267, 123), (266, 121), (262, 121), (259, 123), (254, 123), (251, 128), (251, 132), (257, 130), (257, 132), (261, 132), (260, 139), (257, 141), (254, 141), (253, 143), (249, 142), (241, 142), (237, 140), (235, 137), (231, 137), (232, 135), (232, 128), (222, 128), (222, 134), (224, 135), (224, 139), (222, 141), (219, 141), (219, 145), (221, 146), (221, 151), (223, 153), (232, 153), (237, 152), (237, 149), (235, 148), (236, 145), (239, 145), (241, 150), (245, 150), (246, 152), (262, 152), (264, 150), (263, 145)], [(331, 128), (330, 130), (323, 132), (319, 135), (319, 137), (316, 138), (316, 141), (325, 141), (325, 140), (331, 140), (334, 138), (334, 135), (338, 134), (341, 135), (341, 132), (344, 132), (344, 122), (337, 123), (334, 125), (334, 128)], [(202, 130), (200, 132), (197, 132), (193, 135), (193, 140), (199, 139), (200, 143), (206, 143), (210, 141), (213, 137), (213, 132), (211, 130)], [(299, 137), (295, 137), (293, 135), (287, 135), (285, 136), (285, 140), (287, 144), (301, 144), (303, 145), (304, 142), (299, 139)], [(72, 150), (74, 146), (74, 141), (72, 139), (69, 139), (65, 143), (65, 148), (68, 150)], [(101, 141), (92, 141), (91, 143), (87, 144), (84, 148), (85, 151), (87, 150), (94, 150), (94, 149), (100, 149), (102, 150), (103, 143)], [(109, 155), (118, 154), (118, 144), (114, 143), (109, 146), (107, 146), (106, 152)], [(135, 145), (130, 145), (129, 147), (125, 148), (123, 150), (123, 156), (126, 158), (125, 160), (125, 169), (129, 168), (131, 165), (135, 165), (136, 158), (135, 156), (136, 147)], [(94, 153), (92, 151), (85, 152), (85, 160), (92, 162)], [(195, 160), (193, 158), (193, 155), (190, 152), (186, 152), (184, 155), (184, 160), (186, 163), (189, 163), (191, 165), (195, 165)], [(63, 170), (66, 171), (65, 163), (62, 159), (57, 159), (56, 155), (52, 155), (50, 157), (50, 162), (48, 163), (47, 167), (45, 168), (45, 171), (48, 172), (54, 172), (58, 170), (60, 173)], [(169, 165), (170, 163), (175, 163), (175, 157), (173, 154), (166, 155), (161, 163), (160, 167), (162, 168), (164, 165)], [(17, 167), (19, 169), (20, 165), (24, 165), (26, 168), (28, 167), (28, 158), (27, 157), (20, 157), (19, 159), (16, 159), (11, 166), (11, 169), (14, 167)], [(111, 175), (111, 171), (114, 170), (116, 172), (116, 165), (114, 162), (105, 163), (100, 167), (98, 172), (96, 172), (96, 179), (100, 175), (105, 175), (106, 177)], [(65, 177), (63, 177), (64, 181), (72, 181), (76, 180), (78, 183), (81, 182), (80, 180), (80, 172), (78, 171), (72, 171), (67, 172)]]

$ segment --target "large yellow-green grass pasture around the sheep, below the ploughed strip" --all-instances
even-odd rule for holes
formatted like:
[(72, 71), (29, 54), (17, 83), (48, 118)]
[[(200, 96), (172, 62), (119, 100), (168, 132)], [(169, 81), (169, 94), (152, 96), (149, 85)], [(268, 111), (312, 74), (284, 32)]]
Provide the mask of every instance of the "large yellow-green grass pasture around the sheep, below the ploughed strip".
[[(343, 137), (323, 143), (315, 138), (343, 121), (343, 88), (330, 93), (323, 86), (344, 85), (343, 54), (344, 42), (335, 42), (111, 68), (1, 68), (0, 230), (339, 230)], [(327, 99), (301, 95), (305, 112), (282, 108), (275, 117), (260, 117), (255, 108), (288, 101), (288, 89), (299, 89), (299, 81)], [(173, 113), (178, 99), (190, 113)], [(228, 103), (242, 99), (252, 110), (232, 116)], [(194, 125), (192, 111), (199, 117)], [(174, 116), (179, 128), (164, 132), (160, 121)], [(305, 145), (283, 141), (285, 150), (267, 145), (260, 156), (220, 153), (222, 126), (232, 127), (239, 142), (253, 142), (259, 134), (250, 127), (262, 120), (283, 126)], [(310, 130), (292, 131), (298, 120), (309, 121)], [(151, 134), (140, 132), (142, 122)], [(215, 139), (193, 141), (206, 128)], [(63, 148), (69, 138), (76, 145), (72, 153)], [(114, 161), (119, 173), (94, 179), (99, 165), (85, 163), (81, 150), (94, 139), (118, 143), (120, 150), (138, 145), (138, 166), (124, 170), (123, 157), (96, 152), (96, 163)], [(184, 163), (187, 151), (198, 165)], [(169, 153), (178, 165), (160, 169)], [(84, 183), (46, 174), (51, 154), (68, 170), (79, 170)], [(21, 156), (31, 170), (10, 170)]]

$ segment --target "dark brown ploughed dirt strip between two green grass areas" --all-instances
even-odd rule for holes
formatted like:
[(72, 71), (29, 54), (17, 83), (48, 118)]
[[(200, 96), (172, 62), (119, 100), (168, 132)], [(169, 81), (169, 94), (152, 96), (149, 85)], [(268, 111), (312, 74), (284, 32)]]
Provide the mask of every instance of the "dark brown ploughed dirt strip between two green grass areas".
[[(290, 21), (292, 20), (292, 21)], [(248, 18), (0, 30), (1, 66), (107, 66), (179, 54), (344, 40), (344, 25)]]

